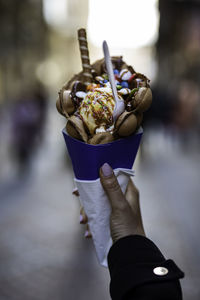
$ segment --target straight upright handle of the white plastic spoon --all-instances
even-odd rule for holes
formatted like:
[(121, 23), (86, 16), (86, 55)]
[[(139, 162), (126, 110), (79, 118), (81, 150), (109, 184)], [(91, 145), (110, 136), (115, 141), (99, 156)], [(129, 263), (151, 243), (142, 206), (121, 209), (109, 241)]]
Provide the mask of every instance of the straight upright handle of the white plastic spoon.
[(103, 42), (103, 52), (104, 52), (104, 57), (105, 57), (106, 69), (108, 72), (108, 78), (109, 78), (111, 89), (113, 92), (113, 97), (115, 99), (115, 102), (117, 103), (118, 95), (117, 95), (117, 89), (116, 89), (116, 85), (115, 85), (115, 77), (114, 77), (113, 66), (112, 66), (110, 53), (109, 53), (109, 49), (108, 49), (108, 45), (107, 45), (106, 41)]

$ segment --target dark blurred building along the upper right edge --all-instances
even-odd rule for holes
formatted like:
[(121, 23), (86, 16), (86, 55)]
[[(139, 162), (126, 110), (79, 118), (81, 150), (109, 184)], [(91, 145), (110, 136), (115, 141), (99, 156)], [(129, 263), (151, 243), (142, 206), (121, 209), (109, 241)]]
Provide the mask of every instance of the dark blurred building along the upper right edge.
[(200, 130), (200, 3), (159, 1), (157, 78), (153, 122), (179, 131)]

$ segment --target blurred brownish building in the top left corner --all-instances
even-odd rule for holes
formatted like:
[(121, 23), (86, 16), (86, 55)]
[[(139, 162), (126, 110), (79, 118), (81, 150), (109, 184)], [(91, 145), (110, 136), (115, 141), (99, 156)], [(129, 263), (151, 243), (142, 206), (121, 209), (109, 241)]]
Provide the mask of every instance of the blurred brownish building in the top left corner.
[(48, 51), (42, 0), (0, 0), (0, 103), (33, 88), (35, 68)]

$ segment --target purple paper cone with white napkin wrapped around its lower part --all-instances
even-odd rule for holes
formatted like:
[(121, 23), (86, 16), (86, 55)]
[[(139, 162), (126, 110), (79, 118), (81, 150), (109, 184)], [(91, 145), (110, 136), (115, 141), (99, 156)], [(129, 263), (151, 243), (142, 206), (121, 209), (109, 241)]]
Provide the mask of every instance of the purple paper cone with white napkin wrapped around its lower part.
[(112, 245), (110, 236), (110, 204), (99, 179), (99, 169), (107, 162), (114, 170), (123, 193), (140, 145), (143, 130), (129, 137), (103, 145), (89, 145), (70, 137), (63, 129), (70, 155), (80, 202), (88, 217), (97, 258), (107, 266), (107, 254)]

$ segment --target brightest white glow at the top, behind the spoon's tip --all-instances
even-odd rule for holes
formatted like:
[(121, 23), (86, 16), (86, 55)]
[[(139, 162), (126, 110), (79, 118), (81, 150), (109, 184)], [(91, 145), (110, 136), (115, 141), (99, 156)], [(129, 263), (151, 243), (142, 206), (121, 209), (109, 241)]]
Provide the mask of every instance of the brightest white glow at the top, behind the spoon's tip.
[(88, 36), (101, 47), (138, 48), (155, 43), (158, 37), (157, 0), (89, 0)]

